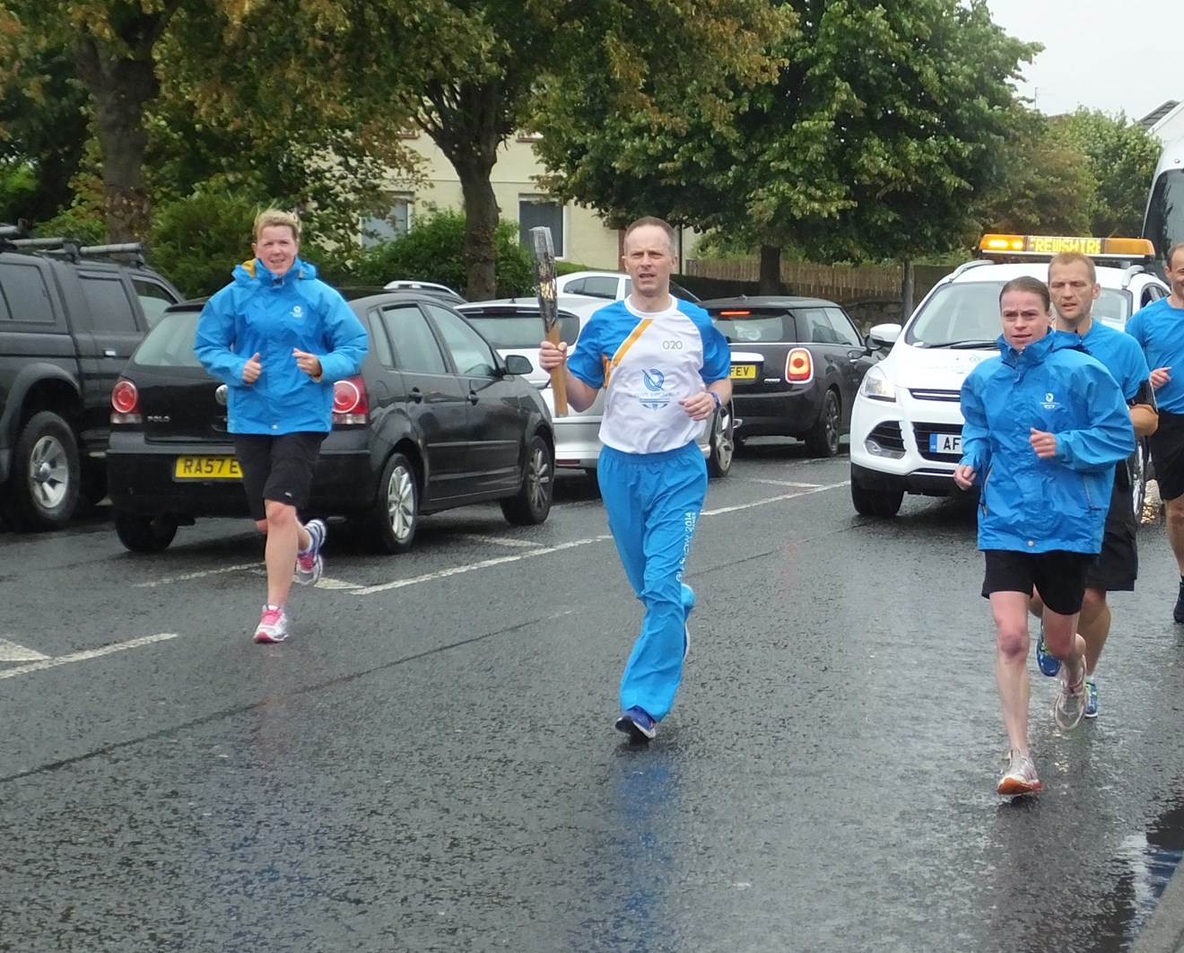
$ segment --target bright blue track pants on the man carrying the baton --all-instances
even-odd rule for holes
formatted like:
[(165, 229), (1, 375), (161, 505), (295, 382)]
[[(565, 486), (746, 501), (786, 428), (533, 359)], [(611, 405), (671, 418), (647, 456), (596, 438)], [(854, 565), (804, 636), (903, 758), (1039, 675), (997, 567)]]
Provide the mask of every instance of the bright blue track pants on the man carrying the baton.
[(662, 453), (606, 446), (597, 481), (629, 585), (645, 605), (642, 635), (620, 678), (620, 708), (637, 706), (658, 721), (682, 681), (687, 617), (695, 605), (682, 571), (707, 496), (707, 463), (695, 443)]

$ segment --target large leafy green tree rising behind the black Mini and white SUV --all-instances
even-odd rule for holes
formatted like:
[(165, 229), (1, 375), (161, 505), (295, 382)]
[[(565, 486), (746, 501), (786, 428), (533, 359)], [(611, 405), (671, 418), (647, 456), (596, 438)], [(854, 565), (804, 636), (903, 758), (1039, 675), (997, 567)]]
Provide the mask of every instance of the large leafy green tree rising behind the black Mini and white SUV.
[(628, 91), (572, 72), (540, 111), (562, 194), (609, 215), (662, 212), (761, 247), (817, 258), (906, 257), (951, 247), (974, 197), (1002, 173), (1022, 120), (1010, 81), (1038, 46), (1006, 37), (983, 0), (793, 0), (776, 84), (734, 89), (734, 118), (688, 107), (648, 125)]

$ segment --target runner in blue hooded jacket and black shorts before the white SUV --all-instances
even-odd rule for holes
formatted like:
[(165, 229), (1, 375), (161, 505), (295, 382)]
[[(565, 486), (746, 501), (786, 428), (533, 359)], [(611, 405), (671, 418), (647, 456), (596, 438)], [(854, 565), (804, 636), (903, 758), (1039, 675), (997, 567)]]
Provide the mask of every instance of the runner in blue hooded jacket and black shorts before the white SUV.
[(999, 296), (999, 356), (961, 387), (963, 457), (954, 482), (980, 485), (983, 595), (996, 630), (995, 675), (1010, 748), (997, 791), (1041, 790), (1028, 751), (1028, 600), (1044, 600), (1044, 642), (1061, 659), (1054, 707), (1063, 730), (1086, 709), (1077, 614), (1086, 569), (1101, 550), (1114, 464), (1134, 450), (1122, 392), (1076, 335), (1051, 330), (1047, 285), (1008, 282)]

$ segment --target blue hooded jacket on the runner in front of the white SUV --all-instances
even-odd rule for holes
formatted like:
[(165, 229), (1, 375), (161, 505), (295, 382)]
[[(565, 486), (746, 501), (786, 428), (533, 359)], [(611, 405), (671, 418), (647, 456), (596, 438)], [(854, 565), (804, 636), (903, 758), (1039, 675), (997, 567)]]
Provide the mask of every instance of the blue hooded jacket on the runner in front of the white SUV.
[[(978, 548), (1098, 553), (1114, 464), (1134, 450), (1131, 414), (1109, 372), (1075, 334), (1050, 330), (983, 361), (963, 381), (963, 458), (982, 485)], [(1032, 450), (1032, 427), (1056, 456)]]

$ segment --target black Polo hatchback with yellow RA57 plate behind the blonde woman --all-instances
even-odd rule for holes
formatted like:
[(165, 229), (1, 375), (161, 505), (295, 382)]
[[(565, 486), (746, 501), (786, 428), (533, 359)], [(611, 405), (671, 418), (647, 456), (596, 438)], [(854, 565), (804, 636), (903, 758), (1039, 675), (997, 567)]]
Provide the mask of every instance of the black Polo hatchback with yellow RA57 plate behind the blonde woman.
[[(502, 359), (439, 298), (366, 292), (349, 303), (369, 335), (356, 376), (334, 388), (307, 511), (347, 516), (390, 553), (420, 514), (500, 501), (515, 524), (551, 511), (554, 432), (522, 356)], [(108, 487), (115, 529), (160, 552), (202, 516), (246, 516), (226, 431), (226, 387), (193, 353), (200, 302), (169, 308), (111, 393)]]

